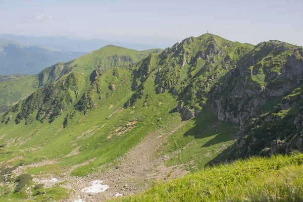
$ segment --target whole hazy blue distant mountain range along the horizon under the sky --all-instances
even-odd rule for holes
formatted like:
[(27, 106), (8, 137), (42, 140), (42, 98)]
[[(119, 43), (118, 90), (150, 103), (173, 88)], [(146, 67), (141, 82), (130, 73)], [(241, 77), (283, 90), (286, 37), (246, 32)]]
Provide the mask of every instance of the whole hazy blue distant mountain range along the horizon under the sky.
[[(37, 74), (46, 67), (68, 62), (109, 44), (137, 51), (168, 47), (173, 39), (139, 38), (138, 43), (108, 41), (104, 39), (73, 39), (64, 36), (17, 36), (0, 34), (0, 75)], [(151, 45), (155, 43), (154, 45)]]

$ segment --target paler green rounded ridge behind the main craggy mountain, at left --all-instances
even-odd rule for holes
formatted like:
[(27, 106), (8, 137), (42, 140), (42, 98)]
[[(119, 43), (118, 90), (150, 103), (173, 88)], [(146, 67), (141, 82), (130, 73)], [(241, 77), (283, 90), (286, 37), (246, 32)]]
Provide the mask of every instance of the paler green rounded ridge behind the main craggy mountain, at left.
[[(161, 49), (147, 51), (135, 51), (118, 46), (105, 46), (92, 53), (84, 55), (68, 63), (58, 63), (42, 70), (39, 74), (21, 78), (18, 80), (0, 83), (0, 112), (4, 112), (9, 106), (25, 98), (35, 89), (57, 81), (63, 75), (73, 71), (92, 71), (95, 67), (118, 66), (126, 63), (134, 63), (147, 57), (150, 53), (160, 52)], [(123, 61), (125, 60), (125, 61)], [(79, 68), (77, 69), (77, 67)]]

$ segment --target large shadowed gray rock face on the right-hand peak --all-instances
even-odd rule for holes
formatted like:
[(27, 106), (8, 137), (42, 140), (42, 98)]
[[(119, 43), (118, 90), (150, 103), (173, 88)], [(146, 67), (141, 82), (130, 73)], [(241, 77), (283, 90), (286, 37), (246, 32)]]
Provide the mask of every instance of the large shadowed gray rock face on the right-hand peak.
[[(211, 45), (209, 48), (213, 50), (214, 45)], [(261, 49), (259, 53), (261, 52), (263, 57), (271, 53), (272, 50), (277, 50), (277, 48), (280, 48), (280, 51), (290, 49), (285, 43), (280, 41), (263, 42), (255, 46), (255, 49), (257, 48)], [(271, 72), (270, 67), (258, 63), (260, 57), (256, 58), (252, 54), (253, 51), (250, 55), (247, 55), (248, 63), (238, 63), (235, 71), (230, 71), (231, 73), (227, 73), (226, 76), (224, 76), (225, 78), (230, 76), (238, 77), (236, 82), (231, 83), (232, 88), (224, 89), (225, 86), (220, 86), (213, 88), (211, 91), (211, 93), (217, 93), (217, 97), (213, 99), (212, 108), (216, 110), (218, 119), (221, 121), (230, 121), (244, 126), (249, 118), (256, 116), (256, 109), (273, 97), (286, 95), (286, 93), (297, 85), (296, 83), (303, 80), (303, 60), (301, 58), (303, 52), (301, 50), (295, 51), (295, 53), (287, 59), (281, 68), (281, 73)], [(223, 69), (229, 66), (227, 64), (229, 60), (230, 58), (228, 56), (224, 58), (222, 61)], [(255, 67), (251, 70), (249, 69), (250, 66)], [(252, 75), (262, 73), (262, 71), (266, 75), (265, 80), (267, 82), (272, 83), (274, 79), (278, 79), (278, 81), (281, 82), (262, 86), (260, 83), (247, 79)], [(230, 93), (222, 96), (226, 90), (230, 91)], [(293, 104), (281, 103), (281, 109), (288, 109), (291, 105)]]

